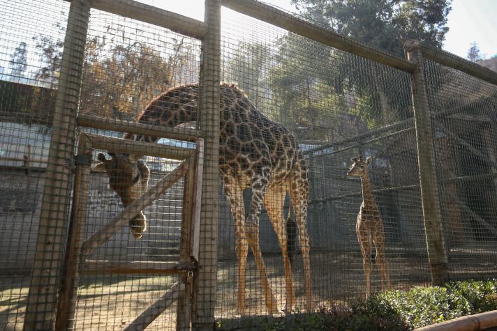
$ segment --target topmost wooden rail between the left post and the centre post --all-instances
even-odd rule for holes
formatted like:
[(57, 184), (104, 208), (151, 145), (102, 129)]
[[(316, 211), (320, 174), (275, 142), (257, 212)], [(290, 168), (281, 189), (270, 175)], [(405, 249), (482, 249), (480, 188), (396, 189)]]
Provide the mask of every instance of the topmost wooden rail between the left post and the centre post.
[(207, 24), (193, 18), (172, 13), (133, 0), (91, 0), (91, 8), (103, 10), (141, 22), (161, 26), (184, 36), (202, 39), (207, 33)]

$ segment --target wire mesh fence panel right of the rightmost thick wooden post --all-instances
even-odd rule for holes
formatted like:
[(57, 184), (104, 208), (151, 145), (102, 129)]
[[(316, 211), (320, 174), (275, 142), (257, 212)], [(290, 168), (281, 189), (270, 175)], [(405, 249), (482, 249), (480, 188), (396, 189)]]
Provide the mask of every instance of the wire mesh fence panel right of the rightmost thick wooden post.
[(451, 279), (493, 277), (497, 88), (426, 60)]

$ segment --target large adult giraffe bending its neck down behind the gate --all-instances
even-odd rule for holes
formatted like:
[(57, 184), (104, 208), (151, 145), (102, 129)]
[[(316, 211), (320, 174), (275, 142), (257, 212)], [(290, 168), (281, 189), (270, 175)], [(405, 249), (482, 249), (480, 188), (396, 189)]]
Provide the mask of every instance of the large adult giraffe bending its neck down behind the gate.
[[(299, 229), (299, 243), (302, 248), (305, 278), (305, 307), (313, 309), (311, 293), (311, 265), (309, 259), (309, 236), (306, 230), (307, 201), (309, 197), (308, 174), (302, 151), (295, 137), (279, 123), (269, 120), (255, 109), (247, 95), (235, 84), (221, 84), (221, 112), (219, 138), (219, 171), (226, 197), (230, 201), (233, 219), (235, 220), (235, 248), (238, 260), (238, 300), (240, 314), (245, 314), (245, 270), (248, 246), (251, 247), (265, 296), (265, 305), (270, 314), (278, 312), (276, 298), (272, 293), (266, 268), (262, 260), (259, 245), (259, 218), (262, 205), (265, 206), (269, 220), (279, 241), (285, 268), (286, 302), (283, 310), (291, 311), (295, 307), (296, 298), (292, 288), (292, 275), (288, 252), (288, 221), (283, 219), (283, 203), (287, 192), (294, 210)], [(140, 123), (152, 123), (175, 127), (183, 123), (197, 120), (198, 85), (189, 84), (171, 88), (152, 100), (140, 114)], [(156, 142), (159, 137), (126, 134), (126, 139)], [(136, 159), (137, 157), (135, 157)], [(135, 187), (131, 180), (135, 176), (148, 176), (136, 167), (134, 172), (126, 174), (126, 169), (119, 169), (115, 164), (135, 162), (126, 155), (105, 160), (99, 155), (103, 167), (108, 164), (107, 171), (110, 182), (119, 182), (119, 178), (128, 178), (128, 186), (119, 187), (117, 193), (124, 206), (131, 203), (146, 190), (142, 185)], [(148, 179), (148, 178), (147, 178)], [(115, 187), (115, 184), (114, 184)], [(251, 205), (248, 217), (245, 218), (243, 190), (251, 188)], [(112, 185), (111, 185), (111, 188)], [(138, 194), (130, 194), (134, 190)], [(124, 199), (126, 197), (126, 199)], [(131, 199), (129, 198), (131, 197)], [(146, 220), (138, 215), (130, 222), (131, 233), (140, 238), (145, 230)], [(288, 224), (285, 226), (285, 223)], [(295, 232), (294, 232), (295, 233)], [(248, 246), (247, 246), (248, 245)]]

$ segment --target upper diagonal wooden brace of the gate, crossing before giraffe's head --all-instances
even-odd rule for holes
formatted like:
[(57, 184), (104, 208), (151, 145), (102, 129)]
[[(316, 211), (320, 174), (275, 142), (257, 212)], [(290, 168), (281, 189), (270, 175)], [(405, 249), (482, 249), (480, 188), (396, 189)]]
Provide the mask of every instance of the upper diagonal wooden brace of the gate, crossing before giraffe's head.
[(183, 176), (188, 170), (188, 162), (183, 162), (171, 171), (170, 174), (164, 176), (163, 179), (159, 180), (156, 185), (150, 188), (147, 192), (142, 194), (138, 199), (133, 201), (131, 205), (124, 208), (112, 221), (102, 226), (96, 233), (90, 236), (81, 247), (81, 260), (87, 259), (93, 252), (95, 252), (98, 247), (100, 247), (105, 241), (114, 234), (122, 229), (129, 220), (133, 220), (133, 217), (138, 215), (144, 208), (150, 206), (158, 197), (160, 197), (169, 187), (174, 185), (181, 176)]

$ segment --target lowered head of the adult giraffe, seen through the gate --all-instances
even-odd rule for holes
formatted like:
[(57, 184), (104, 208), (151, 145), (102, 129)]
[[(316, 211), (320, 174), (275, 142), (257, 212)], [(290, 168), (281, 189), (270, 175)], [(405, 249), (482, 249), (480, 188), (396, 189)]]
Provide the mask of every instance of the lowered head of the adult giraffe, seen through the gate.
[[(109, 186), (119, 195), (124, 206), (133, 201), (147, 190), (150, 171), (149, 168), (133, 155), (109, 152), (110, 160), (102, 153), (98, 154), (98, 163), (95, 169), (105, 169), (109, 176)], [(135, 238), (142, 238), (147, 228), (147, 219), (140, 212), (129, 221), (130, 231)]]

